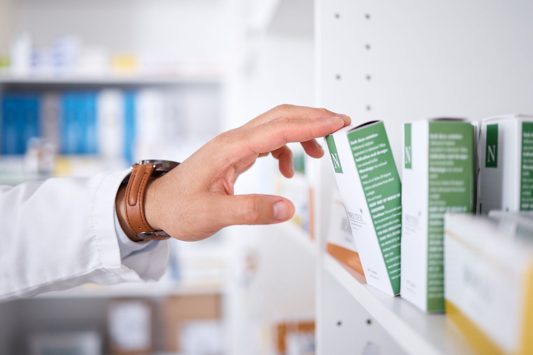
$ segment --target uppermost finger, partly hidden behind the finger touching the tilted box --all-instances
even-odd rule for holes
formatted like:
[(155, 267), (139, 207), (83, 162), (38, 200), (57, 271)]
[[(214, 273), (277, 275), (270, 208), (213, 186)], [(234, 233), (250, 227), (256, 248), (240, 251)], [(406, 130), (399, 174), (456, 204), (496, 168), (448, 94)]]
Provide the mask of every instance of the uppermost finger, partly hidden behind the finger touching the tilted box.
[(266, 111), (265, 113), (259, 115), (252, 121), (249, 121), (243, 127), (255, 127), (261, 125), (262, 123), (269, 122), (277, 119), (290, 119), (290, 120), (301, 120), (301, 119), (312, 119), (312, 118), (330, 118), (330, 117), (339, 117), (344, 120), (344, 125), (348, 126), (352, 122), (351, 118), (342, 113), (335, 113), (326, 109), (317, 109), (307, 106), (295, 106), (295, 105), (279, 105), (275, 108)]

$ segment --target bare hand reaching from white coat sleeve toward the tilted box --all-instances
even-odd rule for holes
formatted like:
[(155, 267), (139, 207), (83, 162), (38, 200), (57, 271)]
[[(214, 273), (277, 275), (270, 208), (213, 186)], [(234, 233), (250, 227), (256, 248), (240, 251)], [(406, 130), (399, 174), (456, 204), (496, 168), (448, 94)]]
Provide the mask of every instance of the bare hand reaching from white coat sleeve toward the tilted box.
[[(231, 225), (273, 224), (294, 214), (284, 197), (233, 195), (233, 184), (259, 156), (272, 153), (279, 171), (294, 175), (289, 142), (302, 142), (305, 152), (321, 158), (324, 150), (314, 138), (351, 123), (350, 117), (326, 109), (280, 105), (244, 126), (216, 136), (166, 175), (149, 183), (145, 216), (150, 226), (182, 241), (198, 241)], [(117, 194), (120, 224), (126, 225)], [(123, 224), (124, 222), (124, 224)], [(125, 229), (126, 230), (126, 229)]]

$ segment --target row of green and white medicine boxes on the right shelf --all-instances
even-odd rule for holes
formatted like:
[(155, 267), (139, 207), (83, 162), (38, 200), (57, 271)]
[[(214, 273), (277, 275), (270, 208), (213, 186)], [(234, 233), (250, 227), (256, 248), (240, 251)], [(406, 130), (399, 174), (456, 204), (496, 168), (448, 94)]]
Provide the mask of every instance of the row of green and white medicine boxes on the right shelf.
[[(533, 117), (405, 123), (401, 183), (383, 122), (344, 127), (325, 140), (354, 241), (346, 243), (346, 233), (336, 233), (328, 252), (352, 263), (357, 253), (369, 285), (400, 294), (423, 311), (450, 308), (445, 295), (458, 276), (450, 282), (456, 265), (448, 263), (463, 261), (445, 260), (445, 227), (483, 243), (482, 234), (471, 233), (477, 221), (456, 227), (461, 217), (453, 217), (445, 226), (446, 213), (533, 210)], [(533, 229), (524, 230), (533, 239)], [(533, 274), (525, 275), (532, 282)]]

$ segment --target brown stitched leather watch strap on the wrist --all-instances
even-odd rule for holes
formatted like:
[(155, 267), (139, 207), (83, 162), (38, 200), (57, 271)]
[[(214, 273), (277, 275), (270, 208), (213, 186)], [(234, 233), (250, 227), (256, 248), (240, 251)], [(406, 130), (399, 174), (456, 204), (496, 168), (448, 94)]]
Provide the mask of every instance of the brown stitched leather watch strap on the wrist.
[[(155, 232), (144, 216), (144, 195), (152, 172), (154, 172), (153, 164), (134, 165), (130, 180), (126, 186), (126, 197), (124, 199), (126, 221), (135, 234)], [(139, 240), (141, 239), (139, 238)]]

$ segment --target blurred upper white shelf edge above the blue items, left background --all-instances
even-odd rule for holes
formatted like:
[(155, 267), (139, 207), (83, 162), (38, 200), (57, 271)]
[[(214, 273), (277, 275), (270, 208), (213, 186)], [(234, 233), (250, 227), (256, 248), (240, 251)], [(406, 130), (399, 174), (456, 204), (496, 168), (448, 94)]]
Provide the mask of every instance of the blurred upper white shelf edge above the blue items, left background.
[(0, 75), (0, 84), (23, 85), (172, 85), (172, 84), (216, 84), (221, 81), (219, 75), (184, 75), (184, 76), (140, 76), (140, 75), (104, 75), (104, 76), (12, 76)]

